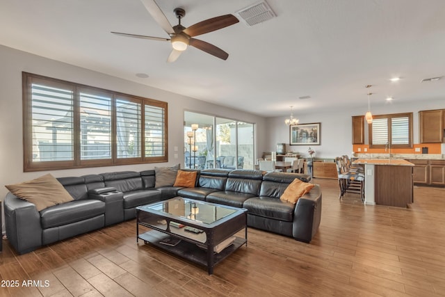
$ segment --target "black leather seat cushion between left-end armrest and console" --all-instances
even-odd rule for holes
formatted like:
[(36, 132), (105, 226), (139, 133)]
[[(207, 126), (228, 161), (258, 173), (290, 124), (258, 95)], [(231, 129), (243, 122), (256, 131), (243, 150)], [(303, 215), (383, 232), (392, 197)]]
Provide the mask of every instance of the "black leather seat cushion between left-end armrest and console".
[(105, 202), (99, 200), (74, 200), (40, 211), (43, 229), (94, 218), (105, 213)]

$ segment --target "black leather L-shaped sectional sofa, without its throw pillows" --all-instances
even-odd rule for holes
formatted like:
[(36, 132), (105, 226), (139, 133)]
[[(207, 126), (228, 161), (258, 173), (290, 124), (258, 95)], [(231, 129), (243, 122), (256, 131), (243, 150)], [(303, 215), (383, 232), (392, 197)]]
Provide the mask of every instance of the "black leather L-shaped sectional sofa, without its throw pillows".
[(297, 204), (282, 202), (280, 195), (308, 175), (259, 170), (201, 170), (195, 188), (154, 188), (155, 171), (109, 172), (58, 181), (74, 198), (42, 211), (8, 193), (4, 200), (6, 235), (20, 254), (71, 236), (97, 230), (136, 217), (136, 207), (175, 196), (248, 209), (248, 225), (309, 243), (321, 220), (318, 185)]

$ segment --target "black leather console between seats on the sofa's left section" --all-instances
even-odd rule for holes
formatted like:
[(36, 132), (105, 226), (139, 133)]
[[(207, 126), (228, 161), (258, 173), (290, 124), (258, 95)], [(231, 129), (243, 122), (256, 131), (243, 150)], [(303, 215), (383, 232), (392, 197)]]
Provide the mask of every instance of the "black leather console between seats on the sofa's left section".
[(105, 225), (124, 221), (124, 193), (115, 188), (95, 188), (88, 191), (89, 199), (105, 202)]

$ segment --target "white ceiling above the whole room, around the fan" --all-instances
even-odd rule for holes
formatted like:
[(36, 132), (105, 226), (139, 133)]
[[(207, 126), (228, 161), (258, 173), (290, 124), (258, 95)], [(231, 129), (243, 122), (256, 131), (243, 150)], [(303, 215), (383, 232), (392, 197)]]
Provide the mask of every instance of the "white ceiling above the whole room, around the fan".
[[(156, 0), (184, 26), (235, 13), (256, 0)], [(0, 0), (0, 44), (266, 117), (335, 106), (442, 99), (444, 0), (268, 0), (277, 17), (243, 22), (197, 38), (229, 53), (220, 60), (193, 47), (166, 63), (168, 38), (140, 0)], [(148, 74), (147, 79), (136, 77)], [(391, 77), (401, 77), (396, 83)], [(371, 90), (365, 88), (372, 84)], [(311, 99), (298, 99), (309, 95)]]

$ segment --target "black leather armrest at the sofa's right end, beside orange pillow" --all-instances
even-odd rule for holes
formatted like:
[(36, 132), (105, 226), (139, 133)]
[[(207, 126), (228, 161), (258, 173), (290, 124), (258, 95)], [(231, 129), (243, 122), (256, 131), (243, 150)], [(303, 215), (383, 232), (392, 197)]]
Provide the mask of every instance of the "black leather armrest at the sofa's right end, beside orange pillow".
[(321, 188), (316, 184), (309, 193), (298, 199), (293, 213), (293, 238), (309, 243), (316, 234), (320, 221)]

